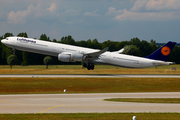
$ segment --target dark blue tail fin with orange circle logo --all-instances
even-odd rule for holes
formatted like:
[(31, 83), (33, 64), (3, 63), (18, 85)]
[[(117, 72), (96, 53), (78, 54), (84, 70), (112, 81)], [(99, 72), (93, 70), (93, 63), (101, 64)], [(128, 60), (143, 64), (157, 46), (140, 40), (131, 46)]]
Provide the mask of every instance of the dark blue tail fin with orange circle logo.
[(169, 41), (168, 43), (163, 45), (161, 48), (156, 50), (154, 53), (152, 53), (149, 56), (146, 56), (145, 58), (166, 61), (175, 45), (176, 45), (176, 42)]

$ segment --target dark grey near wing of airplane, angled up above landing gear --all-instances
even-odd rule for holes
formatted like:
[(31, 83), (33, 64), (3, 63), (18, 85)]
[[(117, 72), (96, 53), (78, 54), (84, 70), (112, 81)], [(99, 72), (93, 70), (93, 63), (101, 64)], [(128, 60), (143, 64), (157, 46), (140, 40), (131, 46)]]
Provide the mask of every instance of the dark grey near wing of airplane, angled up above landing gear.
[(85, 56), (87, 56), (87, 59), (90, 60), (95, 60), (99, 57), (99, 55), (103, 54), (109, 49), (109, 47), (104, 48), (103, 50), (97, 51), (97, 52), (92, 52), (92, 53), (87, 53)]

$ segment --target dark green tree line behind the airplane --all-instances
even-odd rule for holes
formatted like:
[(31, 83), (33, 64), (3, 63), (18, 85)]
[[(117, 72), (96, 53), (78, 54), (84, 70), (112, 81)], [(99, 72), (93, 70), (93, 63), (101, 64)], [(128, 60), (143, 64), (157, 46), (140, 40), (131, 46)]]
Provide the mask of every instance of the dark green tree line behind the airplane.
[[(12, 33), (5, 33), (4, 35), (0, 36), (0, 40), (5, 39), (6, 37), (14, 36)], [(17, 36), (19, 37), (26, 37), (28, 38), (27, 33), (19, 33)], [(36, 39), (36, 38), (35, 38)], [(46, 34), (42, 34), (39, 38), (40, 40), (56, 42), (56, 43), (63, 43), (81, 47), (88, 47), (93, 49), (103, 49), (105, 47), (109, 47), (109, 51), (118, 51), (122, 48), (125, 48), (124, 54), (136, 55), (140, 57), (145, 57), (156, 51), (160, 46), (157, 46), (155, 40), (150, 40), (147, 42), (146, 40), (140, 40), (139, 38), (132, 38), (129, 41), (111, 41), (107, 40), (102, 43), (98, 42), (97, 39), (88, 39), (88, 40), (81, 40), (75, 41), (72, 36), (64, 36), (60, 40), (53, 39), (51, 40)], [(129, 51), (128, 51), (129, 49)], [(5, 46), (0, 42), (0, 64), (7, 65), (8, 56), (13, 54), (13, 49)], [(47, 55), (37, 54), (37, 53), (30, 53), (25, 51), (15, 51), (15, 55), (17, 57), (17, 65), (43, 65), (44, 58)], [(64, 63), (58, 61), (57, 57), (52, 58), (52, 64), (54, 65), (61, 65), (61, 64), (81, 64), (78, 62), (73, 63)], [(171, 55), (168, 58), (168, 61), (175, 62), (177, 64), (180, 63), (180, 47), (175, 46)]]

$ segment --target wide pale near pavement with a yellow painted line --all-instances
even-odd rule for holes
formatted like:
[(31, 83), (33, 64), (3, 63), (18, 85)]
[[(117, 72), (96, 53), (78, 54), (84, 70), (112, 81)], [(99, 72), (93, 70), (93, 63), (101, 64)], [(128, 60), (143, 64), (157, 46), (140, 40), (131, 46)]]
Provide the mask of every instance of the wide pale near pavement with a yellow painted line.
[(180, 113), (180, 104), (103, 101), (119, 97), (179, 98), (180, 92), (0, 95), (0, 113)]

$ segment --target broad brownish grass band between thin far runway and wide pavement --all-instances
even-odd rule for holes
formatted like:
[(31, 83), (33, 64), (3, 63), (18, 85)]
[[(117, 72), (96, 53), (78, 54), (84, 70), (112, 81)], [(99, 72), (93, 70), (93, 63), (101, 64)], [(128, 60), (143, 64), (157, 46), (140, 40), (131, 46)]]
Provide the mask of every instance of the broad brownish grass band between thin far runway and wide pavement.
[(0, 78), (0, 94), (179, 92), (180, 78)]

